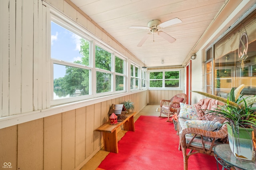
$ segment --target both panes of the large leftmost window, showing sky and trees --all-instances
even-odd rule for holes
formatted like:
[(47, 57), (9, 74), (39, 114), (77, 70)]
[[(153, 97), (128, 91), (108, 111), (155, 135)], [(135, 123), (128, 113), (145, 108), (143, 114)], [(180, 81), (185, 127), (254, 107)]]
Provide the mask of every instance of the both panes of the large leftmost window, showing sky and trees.
[(51, 22), (53, 99), (90, 95), (90, 42)]

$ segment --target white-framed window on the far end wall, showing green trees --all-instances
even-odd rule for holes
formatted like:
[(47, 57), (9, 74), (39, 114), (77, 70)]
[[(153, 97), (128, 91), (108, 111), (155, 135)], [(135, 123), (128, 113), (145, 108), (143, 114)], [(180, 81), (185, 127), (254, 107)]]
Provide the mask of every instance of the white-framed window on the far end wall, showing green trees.
[[(183, 71), (183, 69), (182, 69)], [(171, 71), (150, 71), (149, 87), (150, 88), (182, 88), (181, 87), (181, 70)]]

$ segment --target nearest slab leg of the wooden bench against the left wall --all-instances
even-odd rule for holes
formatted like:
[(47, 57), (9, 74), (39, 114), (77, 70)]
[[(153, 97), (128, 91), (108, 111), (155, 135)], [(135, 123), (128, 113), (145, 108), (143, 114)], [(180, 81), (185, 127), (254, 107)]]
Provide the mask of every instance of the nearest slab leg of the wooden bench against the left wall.
[(112, 133), (103, 132), (104, 149), (108, 152), (118, 153), (117, 133), (116, 130)]

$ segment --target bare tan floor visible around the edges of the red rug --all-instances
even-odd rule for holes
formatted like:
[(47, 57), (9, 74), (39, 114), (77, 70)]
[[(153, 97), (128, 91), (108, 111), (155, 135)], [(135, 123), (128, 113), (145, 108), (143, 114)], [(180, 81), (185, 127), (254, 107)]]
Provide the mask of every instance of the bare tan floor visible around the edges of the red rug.
[[(139, 113), (137, 113), (134, 116), (134, 122), (141, 116), (159, 116), (160, 112), (156, 112), (156, 108), (160, 107), (159, 104), (157, 105), (146, 105)], [(162, 117), (165, 117), (166, 115), (161, 115)], [(166, 116), (167, 118), (167, 116)], [(166, 119), (167, 120), (167, 119)], [(135, 127), (136, 130), (136, 127)], [(124, 136), (124, 134), (127, 131), (120, 130), (117, 134), (118, 141)], [(97, 167), (100, 165), (102, 160), (108, 155), (109, 152), (106, 152), (105, 150), (101, 149), (99, 152), (97, 152), (80, 170), (96, 170)]]

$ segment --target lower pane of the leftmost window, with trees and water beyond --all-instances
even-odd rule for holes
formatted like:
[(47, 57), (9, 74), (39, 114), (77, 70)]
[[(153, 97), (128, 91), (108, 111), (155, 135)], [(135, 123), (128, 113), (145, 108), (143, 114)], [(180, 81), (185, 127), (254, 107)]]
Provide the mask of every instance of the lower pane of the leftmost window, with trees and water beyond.
[(53, 72), (54, 100), (89, 95), (90, 70), (54, 64)]

